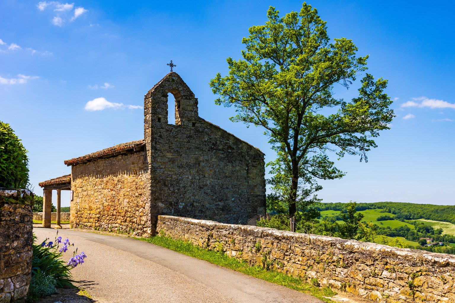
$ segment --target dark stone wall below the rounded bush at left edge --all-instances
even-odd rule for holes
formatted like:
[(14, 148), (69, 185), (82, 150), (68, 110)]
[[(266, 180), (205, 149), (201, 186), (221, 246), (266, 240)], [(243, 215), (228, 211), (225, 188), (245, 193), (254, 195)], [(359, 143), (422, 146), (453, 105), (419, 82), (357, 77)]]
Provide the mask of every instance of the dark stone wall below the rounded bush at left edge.
[(0, 190), (0, 302), (25, 298), (31, 279), (33, 223), (31, 205), (15, 204)]

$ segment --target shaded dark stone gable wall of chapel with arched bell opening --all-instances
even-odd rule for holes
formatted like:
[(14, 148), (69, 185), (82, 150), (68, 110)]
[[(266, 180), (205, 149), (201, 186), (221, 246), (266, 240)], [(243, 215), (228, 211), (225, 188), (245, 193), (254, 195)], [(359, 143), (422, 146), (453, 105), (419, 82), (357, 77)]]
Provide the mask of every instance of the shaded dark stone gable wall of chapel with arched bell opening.
[[(172, 121), (168, 98), (175, 99)], [(176, 73), (145, 95), (152, 224), (158, 214), (244, 224), (265, 212), (264, 154), (199, 118), (197, 104)]]

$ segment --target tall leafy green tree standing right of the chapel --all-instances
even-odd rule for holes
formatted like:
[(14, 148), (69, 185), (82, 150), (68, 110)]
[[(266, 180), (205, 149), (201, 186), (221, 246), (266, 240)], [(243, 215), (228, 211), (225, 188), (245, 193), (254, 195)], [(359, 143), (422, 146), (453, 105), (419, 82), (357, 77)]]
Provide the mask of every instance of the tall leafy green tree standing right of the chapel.
[[(243, 38), (243, 59), (227, 58), (228, 75), (218, 73), (210, 86), (220, 96), (216, 104), (236, 108), (231, 120), (265, 129), (278, 155), (268, 164), (274, 175), (268, 182), (291, 218), (299, 205), (314, 202), (318, 179), (344, 176), (329, 154), (367, 161), (372, 138), (389, 129), (394, 113), (387, 80), (365, 73), (368, 56), (357, 56), (351, 40), (330, 40), (311, 5), (283, 17), (270, 7), (267, 17)], [(335, 97), (335, 85), (347, 89), (359, 75), (356, 98)]]

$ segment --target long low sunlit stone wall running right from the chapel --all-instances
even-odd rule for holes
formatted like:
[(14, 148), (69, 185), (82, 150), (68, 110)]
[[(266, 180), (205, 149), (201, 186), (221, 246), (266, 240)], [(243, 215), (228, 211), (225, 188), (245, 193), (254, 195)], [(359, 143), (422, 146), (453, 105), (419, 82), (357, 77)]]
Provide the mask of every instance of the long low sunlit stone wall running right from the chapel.
[(172, 216), (157, 232), (374, 302), (455, 302), (449, 254)]

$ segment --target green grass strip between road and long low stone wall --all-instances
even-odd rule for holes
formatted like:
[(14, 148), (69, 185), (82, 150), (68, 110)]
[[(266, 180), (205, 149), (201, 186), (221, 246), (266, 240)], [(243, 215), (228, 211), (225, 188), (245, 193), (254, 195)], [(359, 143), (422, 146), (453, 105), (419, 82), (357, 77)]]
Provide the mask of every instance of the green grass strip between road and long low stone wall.
[(260, 278), (262, 280), (278, 285), (283, 285), (287, 288), (291, 288), (302, 293), (310, 294), (313, 297), (319, 298), (324, 302), (334, 302), (329, 298), (324, 298), (331, 297), (336, 294), (336, 292), (328, 287), (319, 288), (312, 284), (306, 283), (302, 279), (293, 278), (284, 273), (278, 273), (273, 270), (266, 270), (259, 266), (249, 266), (245, 261), (242, 262), (236, 258), (231, 258), (224, 253), (205, 250), (203, 248), (194, 246), (191, 243), (184, 242), (182, 240), (174, 240), (172, 238), (164, 236), (139, 239), (171, 249), (177, 253), (183, 253), (193, 258), (198, 258), (212, 264), (230, 268), (240, 273), (248, 274), (249, 276), (253, 276), (255, 278)]

